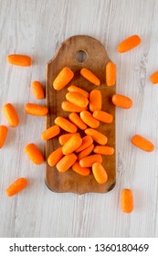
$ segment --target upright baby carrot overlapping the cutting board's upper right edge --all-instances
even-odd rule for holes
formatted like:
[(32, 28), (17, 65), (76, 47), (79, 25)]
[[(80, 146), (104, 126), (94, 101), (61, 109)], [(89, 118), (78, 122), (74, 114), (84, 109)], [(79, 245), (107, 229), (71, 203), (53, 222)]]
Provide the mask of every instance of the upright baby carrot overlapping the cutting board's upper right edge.
[(105, 68), (106, 84), (108, 86), (115, 85), (116, 82), (116, 65), (113, 62), (108, 62)]

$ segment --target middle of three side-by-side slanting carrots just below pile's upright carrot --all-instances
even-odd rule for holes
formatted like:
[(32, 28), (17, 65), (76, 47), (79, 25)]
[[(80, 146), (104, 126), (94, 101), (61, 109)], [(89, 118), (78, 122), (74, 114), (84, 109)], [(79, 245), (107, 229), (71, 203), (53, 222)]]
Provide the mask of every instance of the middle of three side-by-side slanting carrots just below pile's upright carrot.
[(91, 128), (97, 128), (100, 125), (100, 121), (95, 119), (92, 114), (88, 111), (80, 112), (80, 118), (81, 120), (89, 125)]

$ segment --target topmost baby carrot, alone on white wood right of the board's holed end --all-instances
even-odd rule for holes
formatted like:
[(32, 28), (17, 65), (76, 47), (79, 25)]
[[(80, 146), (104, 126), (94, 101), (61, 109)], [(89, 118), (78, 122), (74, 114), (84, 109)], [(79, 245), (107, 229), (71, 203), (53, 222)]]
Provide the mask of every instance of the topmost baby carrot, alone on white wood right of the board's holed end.
[(120, 53), (126, 52), (132, 48), (137, 47), (141, 44), (141, 38), (137, 35), (133, 35), (132, 37), (128, 37), (124, 39), (118, 46), (118, 51)]

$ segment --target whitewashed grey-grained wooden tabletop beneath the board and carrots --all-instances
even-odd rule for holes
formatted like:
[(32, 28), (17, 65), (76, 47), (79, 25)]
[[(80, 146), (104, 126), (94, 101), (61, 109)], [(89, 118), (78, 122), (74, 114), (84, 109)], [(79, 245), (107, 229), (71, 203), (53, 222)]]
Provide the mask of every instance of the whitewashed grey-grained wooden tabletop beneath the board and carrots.
[[(117, 185), (103, 195), (52, 193), (44, 183), (45, 165), (32, 164), (23, 150), (31, 142), (43, 152), (45, 147), (45, 118), (24, 110), (26, 102), (38, 102), (30, 83), (45, 84), (47, 61), (65, 38), (79, 34), (102, 42), (118, 68), (117, 92), (133, 101), (131, 110), (117, 110)], [(119, 42), (133, 34), (141, 46), (119, 54)], [(5, 57), (12, 53), (32, 56), (33, 66), (8, 65)], [(156, 69), (156, 0), (0, 0), (0, 123), (6, 124), (2, 105), (9, 101), (20, 117), (0, 151), (0, 237), (158, 237), (158, 85), (149, 80)], [(151, 140), (155, 151), (135, 148), (135, 133)], [(6, 197), (5, 188), (19, 176), (29, 186)], [(133, 191), (130, 215), (120, 209), (123, 187)]]

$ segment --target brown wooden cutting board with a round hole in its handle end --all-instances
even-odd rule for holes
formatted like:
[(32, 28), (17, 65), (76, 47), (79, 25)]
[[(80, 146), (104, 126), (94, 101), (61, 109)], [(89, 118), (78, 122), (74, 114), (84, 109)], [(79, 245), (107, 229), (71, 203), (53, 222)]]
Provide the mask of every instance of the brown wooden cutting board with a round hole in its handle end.
[[(85, 57), (86, 59), (84, 60)], [(111, 103), (111, 97), (115, 94), (115, 86), (108, 87), (105, 84), (105, 66), (109, 61), (110, 59), (104, 46), (94, 37), (69, 37), (60, 45), (54, 58), (47, 63), (47, 128), (55, 124), (54, 120), (56, 117), (68, 117), (69, 112), (64, 112), (61, 109), (61, 103), (66, 100), (65, 95), (70, 84), (74, 84), (89, 92), (93, 89), (98, 89), (102, 95), (102, 110), (113, 115), (113, 122), (111, 124), (100, 123), (100, 127), (97, 130), (108, 137), (107, 145), (115, 148), (115, 107)], [(74, 78), (63, 90), (55, 91), (52, 86), (53, 80), (55, 80), (59, 71), (66, 66), (72, 69), (75, 74)], [(96, 74), (101, 81), (100, 86), (92, 85), (88, 80), (85, 80), (79, 73), (82, 68), (90, 69)], [(62, 133), (66, 132), (63, 131)], [(46, 143), (46, 158), (59, 146), (58, 136), (48, 140)], [(80, 176), (72, 169), (65, 173), (59, 173), (56, 166), (50, 167), (47, 164), (45, 177), (47, 187), (54, 192), (71, 192), (76, 194), (88, 192), (105, 193), (110, 191), (115, 186), (116, 181), (115, 154), (102, 156), (102, 158), (102, 165), (109, 176), (108, 182), (105, 185), (98, 184), (92, 173), (90, 176)]]

